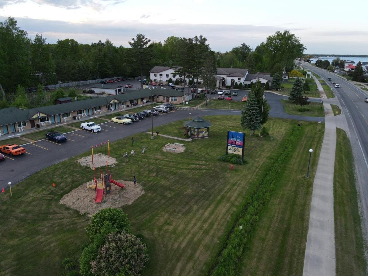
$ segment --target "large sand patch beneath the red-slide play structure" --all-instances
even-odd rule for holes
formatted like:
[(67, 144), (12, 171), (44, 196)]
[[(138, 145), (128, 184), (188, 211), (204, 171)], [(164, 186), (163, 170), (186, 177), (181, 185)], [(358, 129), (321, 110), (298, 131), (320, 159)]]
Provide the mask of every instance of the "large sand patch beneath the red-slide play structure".
[(87, 190), (87, 185), (91, 184), (91, 181), (83, 183), (69, 194), (64, 195), (60, 199), (60, 203), (79, 211), (82, 215), (86, 213), (88, 216), (92, 216), (94, 213), (107, 207), (120, 208), (123, 205), (129, 205), (144, 194), (144, 190), (138, 183), (134, 186), (133, 181), (116, 181), (124, 183), (125, 188), (112, 184), (111, 194), (106, 195), (106, 197), (104, 195), (99, 203), (95, 203), (95, 190)]

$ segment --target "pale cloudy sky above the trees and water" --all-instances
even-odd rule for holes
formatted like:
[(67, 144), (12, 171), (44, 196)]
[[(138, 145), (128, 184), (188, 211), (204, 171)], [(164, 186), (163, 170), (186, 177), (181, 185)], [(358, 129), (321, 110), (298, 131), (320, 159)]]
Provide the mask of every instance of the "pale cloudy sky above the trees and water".
[[(0, 0), (0, 21), (14, 17), (33, 38), (71, 38), (128, 47), (137, 33), (153, 41), (203, 35), (212, 50), (245, 42), (253, 49), (276, 31), (290, 30), (310, 54), (368, 54), (368, 0)], [(361, 13), (359, 11), (362, 11)], [(355, 12), (355, 13), (354, 13)], [(359, 15), (361, 14), (361, 15)]]

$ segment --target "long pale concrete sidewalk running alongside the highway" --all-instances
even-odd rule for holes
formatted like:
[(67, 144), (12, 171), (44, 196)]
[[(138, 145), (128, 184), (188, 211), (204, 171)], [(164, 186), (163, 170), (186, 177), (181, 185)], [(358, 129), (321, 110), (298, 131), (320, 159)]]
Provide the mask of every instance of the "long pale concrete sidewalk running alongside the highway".
[[(313, 76), (314, 77), (314, 76)], [(315, 77), (314, 77), (315, 78)], [(318, 90), (324, 95), (321, 84)], [(305, 246), (303, 275), (336, 275), (333, 173), (335, 170), (336, 120), (324, 102), (325, 135), (313, 183), (309, 229)]]

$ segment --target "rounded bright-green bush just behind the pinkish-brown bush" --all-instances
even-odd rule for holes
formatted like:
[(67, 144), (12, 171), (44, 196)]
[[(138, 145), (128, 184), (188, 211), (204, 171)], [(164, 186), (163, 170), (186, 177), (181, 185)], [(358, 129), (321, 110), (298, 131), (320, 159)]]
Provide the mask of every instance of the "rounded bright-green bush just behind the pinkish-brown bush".
[(111, 226), (116, 229), (117, 232), (123, 230), (130, 232), (131, 230), (128, 216), (123, 210), (109, 207), (99, 210), (91, 217), (91, 221), (85, 228), (90, 240), (93, 240), (96, 234), (101, 234), (101, 229), (105, 225), (105, 222), (111, 223)]

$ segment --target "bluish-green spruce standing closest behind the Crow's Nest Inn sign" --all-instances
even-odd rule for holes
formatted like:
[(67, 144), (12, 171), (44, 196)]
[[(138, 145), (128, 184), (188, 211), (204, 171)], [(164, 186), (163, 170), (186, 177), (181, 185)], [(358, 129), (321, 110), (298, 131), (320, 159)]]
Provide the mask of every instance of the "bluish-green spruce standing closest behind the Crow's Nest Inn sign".
[(248, 95), (248, 104), (241, 112), (240, 124), (245, 130), (254, 134), (261, 127), (261, 116), (259, 114), (258, 102), (253, 92)]

